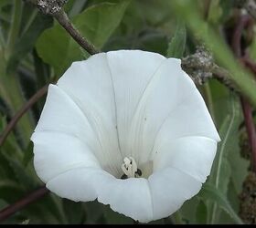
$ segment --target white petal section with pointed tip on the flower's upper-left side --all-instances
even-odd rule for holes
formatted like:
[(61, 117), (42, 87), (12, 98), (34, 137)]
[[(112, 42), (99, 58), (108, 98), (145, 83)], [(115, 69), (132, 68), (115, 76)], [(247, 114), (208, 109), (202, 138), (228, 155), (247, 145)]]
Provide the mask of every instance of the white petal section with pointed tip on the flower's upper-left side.
[(35, 131), (54, 130), (69, 133), (90, 143), (96, 150), (99, 142), (88, 119), (71, 98), (59, 87), (50, 85), (48, 97)]

